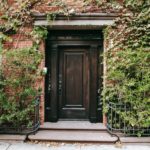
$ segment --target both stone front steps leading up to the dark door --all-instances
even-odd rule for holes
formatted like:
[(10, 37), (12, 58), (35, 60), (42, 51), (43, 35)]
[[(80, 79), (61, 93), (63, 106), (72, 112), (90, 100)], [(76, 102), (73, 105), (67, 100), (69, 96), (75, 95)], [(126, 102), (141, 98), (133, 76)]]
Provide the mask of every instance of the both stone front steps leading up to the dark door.
[(44, 123), (35, 135), (29, 135), (28, 138), (33, 141), (97, 143), (115, 143), (117, 140), (107, 132), (103, 124), (88, 121)]

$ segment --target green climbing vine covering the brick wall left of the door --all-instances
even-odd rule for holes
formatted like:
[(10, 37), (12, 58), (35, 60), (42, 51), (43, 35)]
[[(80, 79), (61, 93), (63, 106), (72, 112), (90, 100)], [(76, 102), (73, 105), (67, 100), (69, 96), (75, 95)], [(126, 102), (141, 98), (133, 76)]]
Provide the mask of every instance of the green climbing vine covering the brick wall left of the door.
[[(34, 110), (41, 93), (37, 83), (42, 79), (39, 66), (43, 58), (39, 45), (47, 36), (45, 27), (30, 27), (30, 9), (37, 2), (0, 3), (0, 128), (22, 130), (37, 123)], [(19, 48), (22, 38), (32, 44)], [(7, 43), (12, 46), (5, 46)]]

